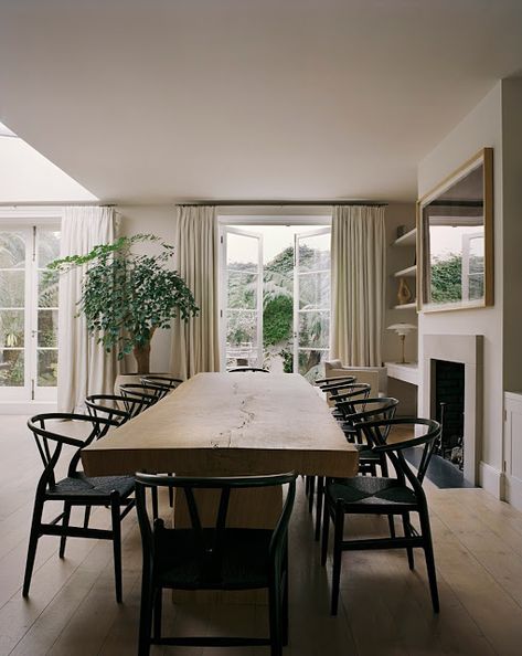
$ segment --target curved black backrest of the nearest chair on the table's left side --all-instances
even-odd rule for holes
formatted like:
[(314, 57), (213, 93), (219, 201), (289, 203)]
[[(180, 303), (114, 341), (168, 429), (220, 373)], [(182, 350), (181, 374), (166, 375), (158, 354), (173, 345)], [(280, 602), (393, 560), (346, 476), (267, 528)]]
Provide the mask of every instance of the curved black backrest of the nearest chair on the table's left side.
[[(51, 422), (53, 422), (52, 430), (49, 425)], [(87, 425), (88, 433), (83, 437), (71, 435), (73, 424), (70, 422), (81, 422)], [(32, 416), (28, 421), (28, 426), (34, 436), (44, 465), (44, 472), (39, 482), (39, 490), (55, 485), (54, 467), (60, 459), (64, 444), (76, 447), (67, 470), (67, 476), (74, 476), (77, 473), (82, 448), (95, 440), (99, 440), (111, 426), (117, 425), (118, 422), (114, 420), (66, 412), (51, 412)]]

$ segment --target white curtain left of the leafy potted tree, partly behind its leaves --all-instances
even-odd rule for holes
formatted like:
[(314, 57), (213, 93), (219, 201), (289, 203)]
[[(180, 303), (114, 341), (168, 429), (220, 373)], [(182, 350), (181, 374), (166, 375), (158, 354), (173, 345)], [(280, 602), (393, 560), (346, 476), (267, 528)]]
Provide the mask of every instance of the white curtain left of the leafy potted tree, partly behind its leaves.
[[(114, 239), (113, 208), (64, 208), (61, 257), (85, 255)], [(88, 334), (85, 317), (76, 316), (85, 271), (84, 265), (60, 276), (58, 412), (83, 412), (85, 396), (111, 393), (116, 377), (115, 355), (106, 353), (96, 337)]]

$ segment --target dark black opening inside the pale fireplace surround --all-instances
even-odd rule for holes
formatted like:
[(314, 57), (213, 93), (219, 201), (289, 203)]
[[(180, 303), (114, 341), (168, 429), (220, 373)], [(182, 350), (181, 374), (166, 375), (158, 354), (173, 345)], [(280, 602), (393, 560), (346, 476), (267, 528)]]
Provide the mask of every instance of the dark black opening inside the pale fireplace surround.
[(464, 469), (465, 364), (432, 360), (435, 416), (443, 427), (438, 455)]

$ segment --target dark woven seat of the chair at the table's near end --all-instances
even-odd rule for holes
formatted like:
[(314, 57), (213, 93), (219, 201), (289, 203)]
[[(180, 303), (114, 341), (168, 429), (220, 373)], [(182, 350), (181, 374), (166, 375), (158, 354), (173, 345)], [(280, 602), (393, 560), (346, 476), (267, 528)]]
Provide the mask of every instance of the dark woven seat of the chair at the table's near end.
[[(203, 529), (210, 538), (213, 530)], [(158, 536), (155, 578), (164, 588), (183, 590), (248, 590), (268, 584), (271, 530), (225, 529), (215, 556), (196, 547), (191, 529), (166, 529)]]

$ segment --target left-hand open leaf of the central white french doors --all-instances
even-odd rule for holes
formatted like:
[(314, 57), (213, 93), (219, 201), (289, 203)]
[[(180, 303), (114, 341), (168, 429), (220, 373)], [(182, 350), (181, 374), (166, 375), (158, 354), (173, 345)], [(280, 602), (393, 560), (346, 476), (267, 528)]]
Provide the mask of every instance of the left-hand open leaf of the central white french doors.
[(222, 241), (222, 368), (263, 366), (263, 236), (225, 226)]

